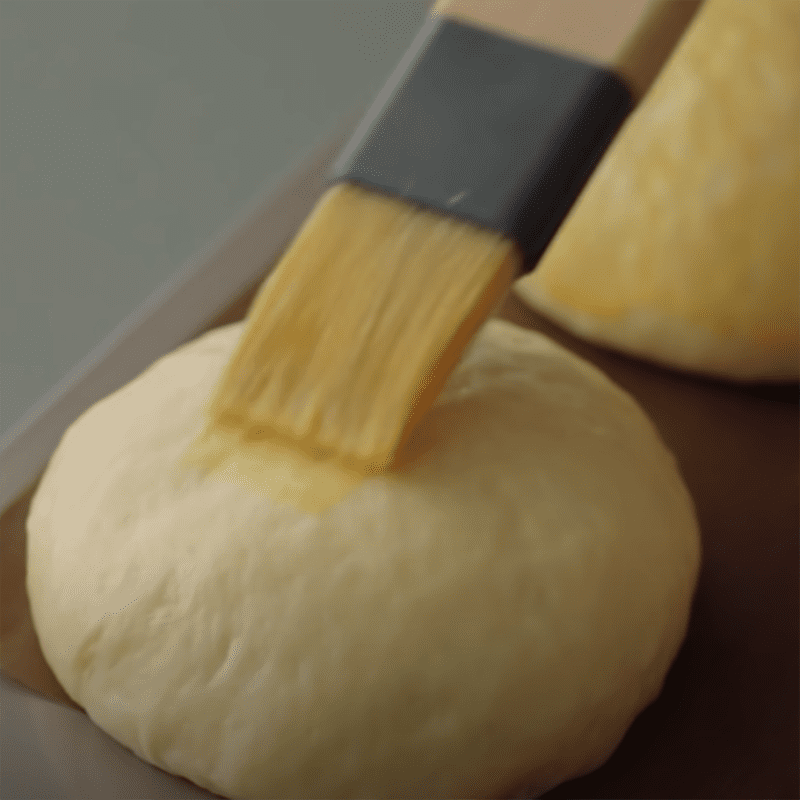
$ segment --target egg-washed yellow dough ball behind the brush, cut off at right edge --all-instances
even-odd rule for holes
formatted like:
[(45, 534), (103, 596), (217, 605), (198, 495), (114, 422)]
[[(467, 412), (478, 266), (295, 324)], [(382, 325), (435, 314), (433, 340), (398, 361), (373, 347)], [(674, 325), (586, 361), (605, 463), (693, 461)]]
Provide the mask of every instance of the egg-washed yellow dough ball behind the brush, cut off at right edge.
[(707, 0), (520, 297), (741, 381), (800, 369), (800, 3)]

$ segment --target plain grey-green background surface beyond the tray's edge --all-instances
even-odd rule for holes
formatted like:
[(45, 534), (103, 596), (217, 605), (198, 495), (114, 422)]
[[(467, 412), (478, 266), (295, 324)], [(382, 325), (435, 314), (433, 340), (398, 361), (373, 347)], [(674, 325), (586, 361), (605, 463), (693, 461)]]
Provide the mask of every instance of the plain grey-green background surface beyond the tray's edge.
[(428, 5), (0, 3), (0, 435), (372, 99)]

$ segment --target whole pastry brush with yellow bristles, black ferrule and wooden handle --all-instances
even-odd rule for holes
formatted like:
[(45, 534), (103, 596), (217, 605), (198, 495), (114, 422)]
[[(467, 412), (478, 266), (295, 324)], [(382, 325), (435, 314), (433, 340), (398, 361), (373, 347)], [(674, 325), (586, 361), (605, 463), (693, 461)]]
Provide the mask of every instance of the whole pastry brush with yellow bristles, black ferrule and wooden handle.
[(440, 0), (267, 278), (209, 430), (387, 469), (695, 0)]

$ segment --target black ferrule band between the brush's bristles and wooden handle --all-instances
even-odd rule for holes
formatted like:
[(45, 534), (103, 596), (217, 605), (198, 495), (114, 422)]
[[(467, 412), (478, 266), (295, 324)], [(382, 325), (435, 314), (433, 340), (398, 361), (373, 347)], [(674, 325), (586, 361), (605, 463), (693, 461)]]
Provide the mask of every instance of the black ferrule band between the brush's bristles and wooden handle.
[(611, 70), (436, 17), (332, 179), (505, 233), (527, 271), (633, 106)]

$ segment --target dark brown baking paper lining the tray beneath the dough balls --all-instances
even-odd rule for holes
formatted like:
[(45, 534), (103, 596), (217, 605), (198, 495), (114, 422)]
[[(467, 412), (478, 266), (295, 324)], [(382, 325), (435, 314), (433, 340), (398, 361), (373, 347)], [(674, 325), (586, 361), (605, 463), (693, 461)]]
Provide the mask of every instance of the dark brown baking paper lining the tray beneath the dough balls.
[[(210, 327), (241, 319), (243, 296)], [(661, 696), (567, 797), (797, 797), (798, 387), (670, 372), (582, 342), (510, 298), (502, 316), (596, 364), (650, 415), (694, 497), (704, 563), (684, 646)], [(74, 705), (39, 649), (25, 594), (32, 491), (2, 515), (0, 668)]]

